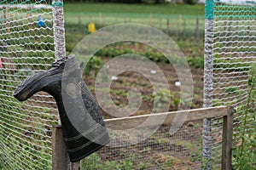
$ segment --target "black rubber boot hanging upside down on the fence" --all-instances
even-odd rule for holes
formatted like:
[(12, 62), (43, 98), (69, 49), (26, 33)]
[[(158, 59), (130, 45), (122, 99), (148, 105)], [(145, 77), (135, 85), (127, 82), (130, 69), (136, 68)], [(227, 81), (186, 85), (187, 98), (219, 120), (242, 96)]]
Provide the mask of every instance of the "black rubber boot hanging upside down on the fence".
[(101, 111), (82, 80), (74, 56), (55, 61), (49, 71), (27, 77), (14, 96), (24, 101), (39, 91), (55, 98), (70, 161), (79, 161), (108, 144)]

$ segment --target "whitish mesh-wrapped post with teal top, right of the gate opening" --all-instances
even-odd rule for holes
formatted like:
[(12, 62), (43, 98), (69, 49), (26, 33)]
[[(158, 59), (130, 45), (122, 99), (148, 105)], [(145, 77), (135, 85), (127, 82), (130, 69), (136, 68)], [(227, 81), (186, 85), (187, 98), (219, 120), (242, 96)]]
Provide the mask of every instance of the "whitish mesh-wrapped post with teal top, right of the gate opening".
[[(213, 8), (214, 1), (207, 0), (205, 6), (205, 72), (204, 105), (212, 106), (212, 65), (213, 65)], [(212, 120), (203, 121), (203, 168), (211, 169), (212, 161)]]

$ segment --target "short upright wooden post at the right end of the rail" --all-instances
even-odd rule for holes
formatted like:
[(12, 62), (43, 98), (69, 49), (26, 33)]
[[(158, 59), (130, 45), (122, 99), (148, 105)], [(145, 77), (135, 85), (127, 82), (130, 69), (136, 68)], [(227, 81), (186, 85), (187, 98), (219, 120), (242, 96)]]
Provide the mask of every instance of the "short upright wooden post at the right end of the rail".
[(223, 139), (222, 139), (222, 169), (231, 170), (232, 164), (232, 140), (233, 140), (233, 113), (230, 107), (227, 116), (223, 120)]

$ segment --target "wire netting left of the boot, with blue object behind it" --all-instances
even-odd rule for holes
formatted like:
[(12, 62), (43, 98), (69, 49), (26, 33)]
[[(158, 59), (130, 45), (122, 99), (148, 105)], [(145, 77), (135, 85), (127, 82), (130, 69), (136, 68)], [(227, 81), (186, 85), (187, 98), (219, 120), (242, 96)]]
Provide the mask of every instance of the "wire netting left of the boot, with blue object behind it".
[(27, 76), (54, 61), (51, 2), (0, 2), (0, 168), (51, 168), (51, 126), (55, 101), (38, 93), (26, 102), (13, 97)]

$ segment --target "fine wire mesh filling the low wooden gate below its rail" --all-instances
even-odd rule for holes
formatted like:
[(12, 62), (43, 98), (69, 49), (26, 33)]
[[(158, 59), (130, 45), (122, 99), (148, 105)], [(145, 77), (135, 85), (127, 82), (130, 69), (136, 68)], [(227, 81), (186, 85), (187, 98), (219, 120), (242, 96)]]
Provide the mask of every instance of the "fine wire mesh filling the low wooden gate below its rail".
[(202, 120), (185, 122), (173, 135), (170, 128), (163, 124), (137, 144), (129, 144), (129, 136), (120, 139), (111, 133), (111, 143), (86, 157), (82, 169), (201, 169)]

